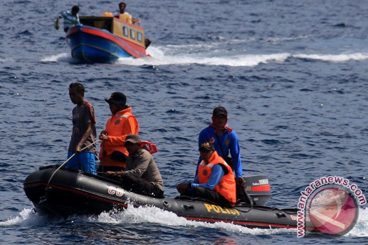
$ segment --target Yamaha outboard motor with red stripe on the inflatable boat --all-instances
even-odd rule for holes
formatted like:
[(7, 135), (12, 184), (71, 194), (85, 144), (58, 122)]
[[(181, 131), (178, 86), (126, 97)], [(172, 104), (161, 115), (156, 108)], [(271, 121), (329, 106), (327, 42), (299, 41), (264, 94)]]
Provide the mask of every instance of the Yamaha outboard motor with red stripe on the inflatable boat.
[(268, 177), (256, 175), (244, 177), (245, 187), (237, 185), (237, 200), (250, 205), (265, 206), (271, 199)]

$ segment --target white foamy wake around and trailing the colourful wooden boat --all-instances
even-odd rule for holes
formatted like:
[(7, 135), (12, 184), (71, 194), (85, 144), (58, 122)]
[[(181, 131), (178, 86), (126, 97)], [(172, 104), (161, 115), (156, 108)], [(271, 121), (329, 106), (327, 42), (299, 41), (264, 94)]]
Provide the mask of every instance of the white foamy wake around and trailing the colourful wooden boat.
[[(219, 43), (150, 46), (146, 50), (151, 57), (120, 58), (117, 65), (227, 65), (227, 66), (256, 66), (270, 62), (283, 63), (289, 58), (301, 60), (316, 60), (327, 62), (363, 61), (368, 59), (368, 53), (351, 54), (247, 54), (247, 50), (229, 51)], [(239, 54), (241, 53), (241, 54)], [(77, 60), (68, 53), (51, 55), (42, 58), (43, 62), (76, 63)]]

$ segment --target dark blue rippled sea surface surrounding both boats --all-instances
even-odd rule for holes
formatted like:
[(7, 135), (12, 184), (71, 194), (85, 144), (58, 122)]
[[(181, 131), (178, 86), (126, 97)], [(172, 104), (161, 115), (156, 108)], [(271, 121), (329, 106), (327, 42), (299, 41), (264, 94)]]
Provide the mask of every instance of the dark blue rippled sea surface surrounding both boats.
[(166, 196), (191, 180), (199, 132), (223, 105), (243, 174), (269, 176), (270, 206), (297, 207), (300, 191), (342, 176), (368, 195), (368, 4), (364, 0), (136, 0), (127, 11), (152, 39), (151, 58), (80, 64), (59, 12), (117, 11), (111, 0), (0, 0), (0, 244), (368, 244), (368, 210), (334, 238), (296, 230), (188, 221), (157, 208), (47, 220), (23, 191), (38, 167), (66, 160), (71, 82), (86, 87), (98, 133), (105, 98), (127, 96), (154, 155)]

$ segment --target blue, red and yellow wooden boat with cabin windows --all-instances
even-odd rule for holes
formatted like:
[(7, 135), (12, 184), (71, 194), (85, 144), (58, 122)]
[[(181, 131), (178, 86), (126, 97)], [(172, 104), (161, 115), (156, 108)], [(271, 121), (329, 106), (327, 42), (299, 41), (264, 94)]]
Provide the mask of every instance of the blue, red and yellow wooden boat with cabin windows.
[(80, 16), (81, 25), (66, 33), (72, 57), (88, 63), (113, 63), (118, 58), (147, 57), (150, 40), (144, 28), (133, 24), (129, 14), (113, 17), (105, 12), (102, 17)]

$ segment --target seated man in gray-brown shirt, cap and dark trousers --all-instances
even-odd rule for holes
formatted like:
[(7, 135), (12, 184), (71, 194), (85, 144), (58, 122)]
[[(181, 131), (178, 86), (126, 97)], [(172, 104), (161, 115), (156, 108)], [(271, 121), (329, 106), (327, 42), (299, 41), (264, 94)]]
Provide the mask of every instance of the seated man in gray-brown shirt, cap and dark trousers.
[(163, 197), (163, 181), (152, 155), (142, 148), (137, 134), (125, 138), (125, 147), (129, 152), (125, 171), (107, 171), (107, 177), (121, 181), (121, 186), (137, 194)]

